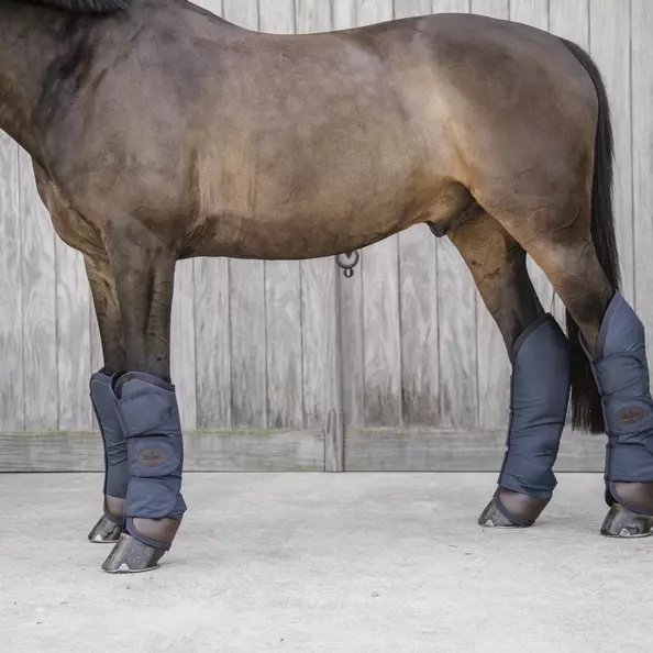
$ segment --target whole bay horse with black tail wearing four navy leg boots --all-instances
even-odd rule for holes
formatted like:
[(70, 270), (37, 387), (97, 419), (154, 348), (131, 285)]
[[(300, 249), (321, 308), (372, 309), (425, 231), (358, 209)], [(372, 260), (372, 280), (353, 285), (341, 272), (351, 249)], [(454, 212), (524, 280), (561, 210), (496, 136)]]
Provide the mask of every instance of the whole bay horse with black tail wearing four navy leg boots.
[(468, 14), (262, 34), (185, 0), (0, 0), (0, 128), (84, 255), (100, 328), (104, 571), (159, 566), (186, 510), (176, 262), (331, 256), (418, 223), (455, 244), (512, 364), (479, 523), (529, 527), (549, 503), (571, 391), (574, 427), (607, 433), (600, 532), (651, 533), (644, 330), (619, 292), (608, 99), (580, 47)]

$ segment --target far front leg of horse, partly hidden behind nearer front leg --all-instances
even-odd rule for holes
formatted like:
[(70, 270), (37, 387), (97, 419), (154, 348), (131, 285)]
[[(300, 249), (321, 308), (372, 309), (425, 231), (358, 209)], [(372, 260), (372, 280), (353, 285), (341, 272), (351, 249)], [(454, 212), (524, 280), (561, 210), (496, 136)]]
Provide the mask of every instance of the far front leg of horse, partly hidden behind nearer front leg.
[(115, 543), (124, 527), (124, 503), (129, 484), (126, 440), (109, 387), (111, 375), (124, 366), (122, 325), (109, 259), (86, 257), (86, 272), (104, 357), (104, 367), (91, 376), (89, 384), (104, 449), (103, 514), (88, 539), (91, 542)]

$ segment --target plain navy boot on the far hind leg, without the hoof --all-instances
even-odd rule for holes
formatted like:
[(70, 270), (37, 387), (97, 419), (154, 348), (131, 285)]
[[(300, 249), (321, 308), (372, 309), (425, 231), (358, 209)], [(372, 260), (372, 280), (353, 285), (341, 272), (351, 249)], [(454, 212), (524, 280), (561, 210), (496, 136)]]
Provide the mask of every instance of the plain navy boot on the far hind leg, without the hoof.
[(569, 346), (551, 314), (512, 348), (510, 424), (499, 486), (549, 500), (569, 400)]

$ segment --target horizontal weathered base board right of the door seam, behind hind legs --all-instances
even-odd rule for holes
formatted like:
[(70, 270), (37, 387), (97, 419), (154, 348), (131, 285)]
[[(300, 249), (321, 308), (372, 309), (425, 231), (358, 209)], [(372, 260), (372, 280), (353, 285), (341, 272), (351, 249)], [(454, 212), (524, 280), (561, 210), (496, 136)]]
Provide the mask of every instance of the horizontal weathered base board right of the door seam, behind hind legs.
[[(499, 472), (505, 430), (348, 429), (346, 472)], [(565, 433), (555, 472), (602, 472), (602, 438)]]

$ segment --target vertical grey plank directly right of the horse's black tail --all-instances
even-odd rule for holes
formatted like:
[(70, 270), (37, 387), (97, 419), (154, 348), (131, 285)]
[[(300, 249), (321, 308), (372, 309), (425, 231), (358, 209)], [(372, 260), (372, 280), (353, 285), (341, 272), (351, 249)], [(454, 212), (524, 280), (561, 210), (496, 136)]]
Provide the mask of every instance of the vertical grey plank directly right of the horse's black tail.
[(628, 47), (630, 2), (593, 0), (589, 4), (589, 52), (601, 71), (610, 102), (615, 134), (615, 221), (621, 261), (621, 286), (626, 299), (633, 301), (632, 125)]

